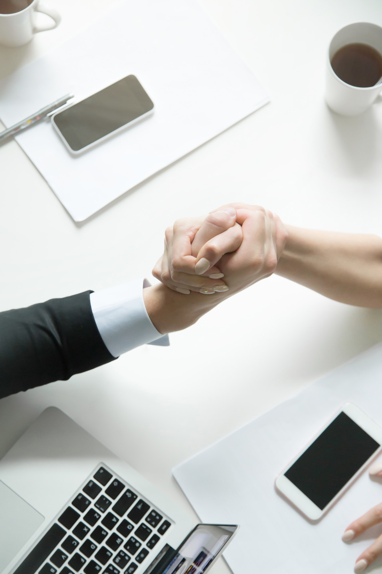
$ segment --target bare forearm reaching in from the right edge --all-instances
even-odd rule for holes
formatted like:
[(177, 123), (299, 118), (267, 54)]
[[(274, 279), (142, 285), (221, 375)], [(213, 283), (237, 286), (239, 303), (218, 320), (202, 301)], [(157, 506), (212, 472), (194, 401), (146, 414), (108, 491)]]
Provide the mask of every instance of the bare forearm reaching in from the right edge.
[(382, 239), (287, 226), (276, 272), (336, 301), (382, 308)]

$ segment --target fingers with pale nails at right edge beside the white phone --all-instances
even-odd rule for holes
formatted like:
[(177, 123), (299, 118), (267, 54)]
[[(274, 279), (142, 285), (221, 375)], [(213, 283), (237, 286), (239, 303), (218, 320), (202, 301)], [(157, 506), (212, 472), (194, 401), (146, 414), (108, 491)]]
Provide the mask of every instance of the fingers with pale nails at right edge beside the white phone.
[[(382, 466), (381, 464), (375, 464), (369, 470), (371, 476), (382, 476)], [(344, 534), (342, 535), (342, 540), (344, 542), (350, 542), (360, 534), (363, 534), (365, 530), (368, 530), (372, 526), (375, 526), (382, 522), (382, 504), (379, 504), (369, 510), (366, 514), (358, 518), (356, 521), (352, 522), (348, 528), (346, 528)], [(354, 571), (356, 573), (363, 572), (368, 566), (370, 566), (379, 556), (382, 555), (382, 534), (377, 538), (375, 542), (369, 548), (367, 548), (356, 560), (356, 565)]]

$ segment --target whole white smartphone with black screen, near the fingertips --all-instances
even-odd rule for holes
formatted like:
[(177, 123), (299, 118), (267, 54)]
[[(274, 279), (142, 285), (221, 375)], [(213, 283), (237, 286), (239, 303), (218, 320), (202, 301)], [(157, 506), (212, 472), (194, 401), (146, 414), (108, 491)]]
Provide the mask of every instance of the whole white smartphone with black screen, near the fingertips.
[(317, 521), (382, 450), (382, 428), (352, 403), (337, 412), (275, 480), (306, 518)]

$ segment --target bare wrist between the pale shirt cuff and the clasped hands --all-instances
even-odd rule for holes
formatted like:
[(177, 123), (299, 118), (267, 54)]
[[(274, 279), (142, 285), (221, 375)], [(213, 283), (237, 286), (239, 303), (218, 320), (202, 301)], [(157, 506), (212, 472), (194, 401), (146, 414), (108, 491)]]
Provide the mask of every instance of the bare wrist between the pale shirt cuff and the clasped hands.
[(144, 289), (143, 298), (152, 324), (164, 335), (196, 323), (204, 313), (218, 305), (222, 295), (195, 292), (183, 295), (160, 283)]

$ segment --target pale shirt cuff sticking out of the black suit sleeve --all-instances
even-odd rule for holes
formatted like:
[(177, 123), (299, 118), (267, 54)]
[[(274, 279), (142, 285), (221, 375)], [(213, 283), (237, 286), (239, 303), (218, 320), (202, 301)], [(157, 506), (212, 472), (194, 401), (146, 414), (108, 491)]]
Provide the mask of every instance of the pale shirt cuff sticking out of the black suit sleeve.
[(115, 357), (135, 347), (152, 343), (167, 346), (168, 335), (159, 333), (147, 314), (143, 289), (147, 279), (136, 279), (90, 293), (90, 305), (101, 338)]

